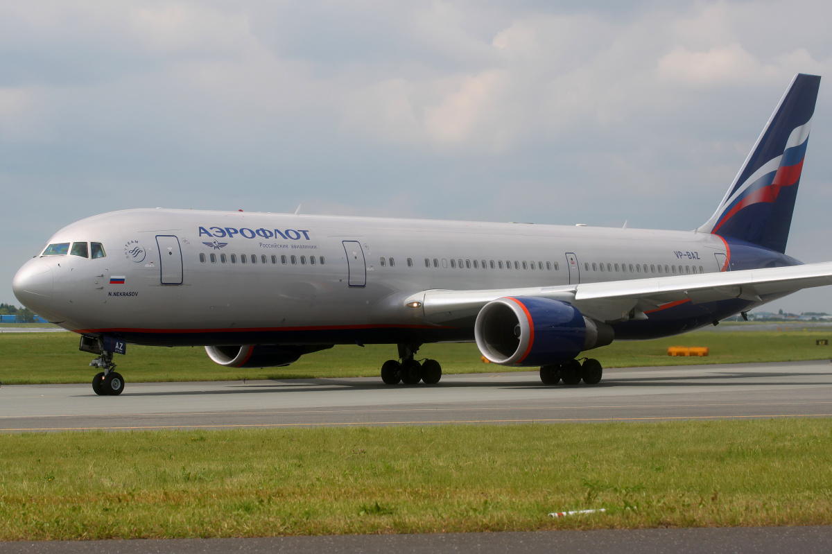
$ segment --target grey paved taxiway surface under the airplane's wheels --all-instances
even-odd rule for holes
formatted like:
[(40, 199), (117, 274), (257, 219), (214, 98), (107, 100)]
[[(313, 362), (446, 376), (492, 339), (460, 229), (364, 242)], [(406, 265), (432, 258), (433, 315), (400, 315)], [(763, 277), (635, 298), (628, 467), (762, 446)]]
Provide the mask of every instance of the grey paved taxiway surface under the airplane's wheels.
[[(126, 374), (129, 379), (129, 374)], [(537, 373), (445, 375), (438, 385), (380, 378), (89, 384), (0, 388), (0, 431), (565, 423), (832, 416), (829, 360), (607, 369), (595, 386), (546, 387)]]

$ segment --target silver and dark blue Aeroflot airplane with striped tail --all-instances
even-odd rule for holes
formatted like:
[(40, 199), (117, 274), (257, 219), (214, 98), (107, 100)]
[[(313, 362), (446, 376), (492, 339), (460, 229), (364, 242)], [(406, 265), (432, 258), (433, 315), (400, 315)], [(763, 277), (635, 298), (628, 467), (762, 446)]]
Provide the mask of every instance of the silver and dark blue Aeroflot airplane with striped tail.
[(396, 344), (380, 371), (395, 385), (439, 382), (422, 344), (475, 341), (493, 364), (539, 367), (543, 384), (593, 385), (588, 350), (832, 284), (832, 262), (785, 255), (819, 87), (794, 77), (696, 230), (122, 210), (57, 231), (12, 288), (98, 355), (99, 395), (124, 390), (113, 359), (126, 344), (204, 346), (230, 368)]

